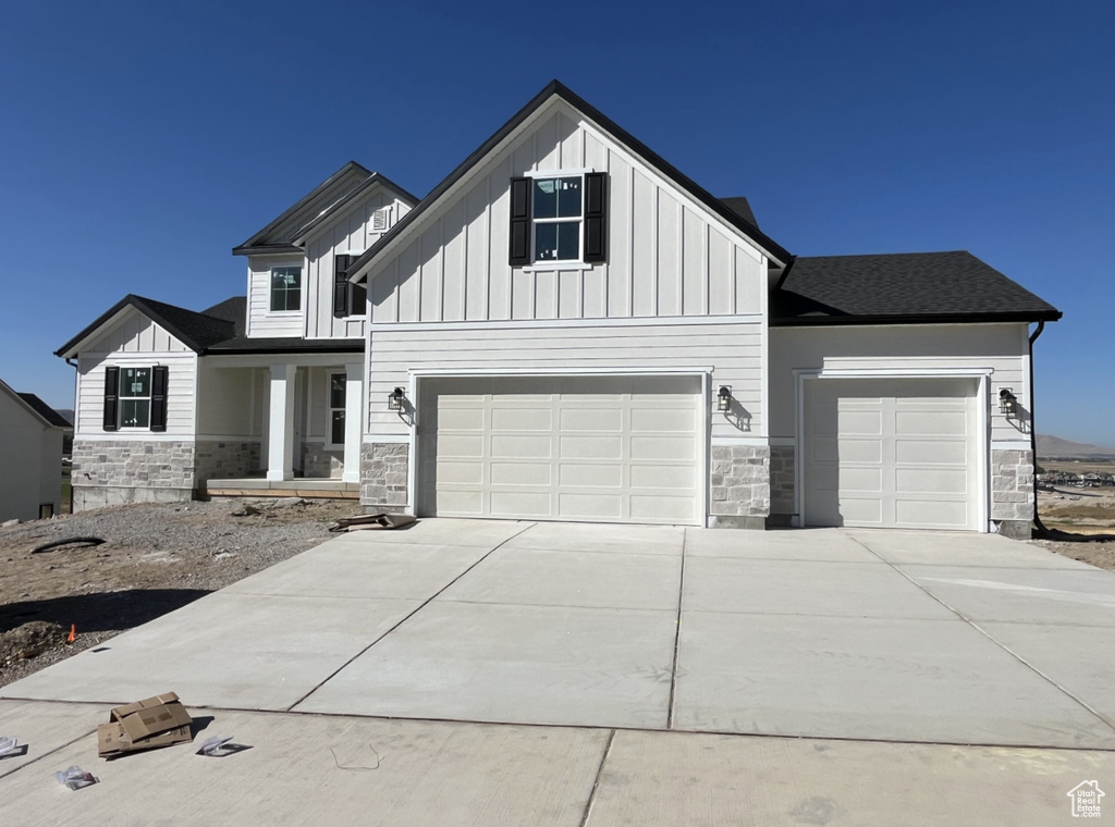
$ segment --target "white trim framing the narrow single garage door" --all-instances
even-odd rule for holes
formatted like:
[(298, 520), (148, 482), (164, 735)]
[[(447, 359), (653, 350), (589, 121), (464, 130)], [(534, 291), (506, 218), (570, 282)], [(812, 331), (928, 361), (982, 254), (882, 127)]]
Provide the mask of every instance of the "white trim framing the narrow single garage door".
[(979, 445), (976, 450), (976, 476), (979, 484), (977, 494), (976, 525), (981, 533), (990, 528), (990, 410), (989, 386), (993, 368), (914, 368), (914, 369), (795, 369), (795, 441), (794, 451), (794, 510), (793, 525), (805, 526), (805, 383), (824, 379), (963, 379), (977, 380), (976, 416)]

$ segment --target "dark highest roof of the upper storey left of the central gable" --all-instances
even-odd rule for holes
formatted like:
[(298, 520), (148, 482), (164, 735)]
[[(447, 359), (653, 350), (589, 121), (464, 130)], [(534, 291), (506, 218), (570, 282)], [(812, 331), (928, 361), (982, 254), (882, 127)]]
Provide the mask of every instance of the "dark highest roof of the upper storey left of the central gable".
[(350, 160), (263, 230), (233, 247), (232, 252), (234, 255), (301, 253), (298, 242), (375, 184), (395, 191), (410, 204), (418, 203), (416, 196), (386, 175), (374, 173)]

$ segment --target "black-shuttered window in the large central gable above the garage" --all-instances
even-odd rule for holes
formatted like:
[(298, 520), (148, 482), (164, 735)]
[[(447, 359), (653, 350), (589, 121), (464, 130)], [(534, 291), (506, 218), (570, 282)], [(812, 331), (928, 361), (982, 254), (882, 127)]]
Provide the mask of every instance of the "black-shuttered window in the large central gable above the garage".
[(511, 181), (512, 266), (607, 261), (608, 175), (535, 173)]

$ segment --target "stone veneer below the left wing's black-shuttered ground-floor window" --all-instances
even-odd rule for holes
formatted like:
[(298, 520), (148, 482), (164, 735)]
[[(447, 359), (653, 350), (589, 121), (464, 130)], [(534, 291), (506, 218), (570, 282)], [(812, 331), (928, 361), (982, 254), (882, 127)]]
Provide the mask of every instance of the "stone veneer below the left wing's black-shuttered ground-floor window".
[(188, 500), (194, 490), (194, 442), (75, 440), (70, 479), (75, 512)]

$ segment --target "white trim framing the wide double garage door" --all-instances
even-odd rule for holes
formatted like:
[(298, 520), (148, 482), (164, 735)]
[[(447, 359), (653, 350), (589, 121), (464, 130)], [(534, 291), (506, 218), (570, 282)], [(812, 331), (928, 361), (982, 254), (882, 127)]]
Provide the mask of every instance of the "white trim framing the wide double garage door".
[[(440, 370), (436, 368), (423, 368), (413, 369), (408, 371), (409, 373), (409, 399), (411, 403), (418, 402), (421, 399), (421, 391), (419, 385), (425, 382), (425, 380), (438, 380), (438, 379), (466, 379), (471, 377), (484, 378), (484, 379), (503, 379), (503, 378), (554, 378), (554, 379), (575, 379), (581, 377), (618, 377), (618, 378), (638, 378), (638, 377), (688, 377), (696, 379), (699, 387), (699, 405), (700, 410), (699, 419), (697, 422), (697, 438), (698, 445), (700, 446), (700, 451), (702, 456), (697, 458), (696, 473), (698, 474), (697, 485), (696, 485), (696, 514), (694, 515), (694, 523), (699, 526), (707, 527), (709, 522), (709, 473), (711, 463), (711, 402), (712, 402), (712, 368), (669, 368), (669, 369), (655, 369), (655, 368), (615, 368), (615, 369), (590, 369), (590, 370), (568, 370), (568, 369), (508, 369), (508, 370), (472, 370), (472, 369), (450, 369)], [(421, 425), (421, 410), (423, 405), (415, 406), (414, 420), (409, 425), (410, 439), (409, 439), (409, 451), (408, 451), (408, 513), (417, 514), (418, 506), (420, 504), (420, 493), (419, 493), (419, 439), (418, 439), (418, 428)]]

